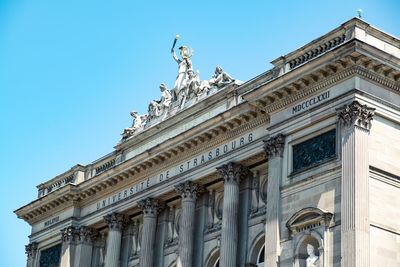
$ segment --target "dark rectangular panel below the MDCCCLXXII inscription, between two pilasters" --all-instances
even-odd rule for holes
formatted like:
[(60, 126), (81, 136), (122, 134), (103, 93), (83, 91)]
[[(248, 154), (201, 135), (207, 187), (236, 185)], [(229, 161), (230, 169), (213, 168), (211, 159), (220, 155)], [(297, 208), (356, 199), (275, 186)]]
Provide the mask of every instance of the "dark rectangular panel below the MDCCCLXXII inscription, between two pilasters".
[(336, 129), (293, 145), (293, 172), (325, 162), (336, 156)]

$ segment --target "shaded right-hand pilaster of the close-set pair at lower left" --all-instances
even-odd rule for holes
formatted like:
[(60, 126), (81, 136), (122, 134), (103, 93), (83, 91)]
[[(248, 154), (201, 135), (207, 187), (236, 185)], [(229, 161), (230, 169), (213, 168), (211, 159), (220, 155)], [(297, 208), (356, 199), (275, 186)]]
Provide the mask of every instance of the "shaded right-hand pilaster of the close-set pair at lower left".
[(76, 245), (75, 265), (76, 267), (91, 266), (93, 242), (97, 239), (99, 233), (96, 229), (82, 226), (79, 228), (79, 240)]

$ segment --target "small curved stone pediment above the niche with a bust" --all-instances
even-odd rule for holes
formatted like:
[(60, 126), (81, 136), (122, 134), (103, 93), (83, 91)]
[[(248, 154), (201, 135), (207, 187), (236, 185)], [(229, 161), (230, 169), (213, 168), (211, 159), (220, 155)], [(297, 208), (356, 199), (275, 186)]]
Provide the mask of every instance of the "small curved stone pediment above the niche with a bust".
[(328, 227), (333, 214), (318, 208), (308, 207), (299, 210), (288, 220), (286, 227), (292, 234), (297, 234), (318, 227)]

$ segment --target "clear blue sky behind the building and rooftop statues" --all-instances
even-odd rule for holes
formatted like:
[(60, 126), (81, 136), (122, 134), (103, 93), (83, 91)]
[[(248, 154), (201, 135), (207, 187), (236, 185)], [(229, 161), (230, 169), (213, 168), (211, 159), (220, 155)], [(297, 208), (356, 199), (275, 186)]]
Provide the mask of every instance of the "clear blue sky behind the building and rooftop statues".
[(246, 81), (359, 8), (400, 36), (395, 0), (0, 0), (0, 266), (25, 266), (30, 227), (13, 211), (36, 185), (111, 152), (129, 112), (172, 87), (175, 34), (202, 79), (219, 64)]

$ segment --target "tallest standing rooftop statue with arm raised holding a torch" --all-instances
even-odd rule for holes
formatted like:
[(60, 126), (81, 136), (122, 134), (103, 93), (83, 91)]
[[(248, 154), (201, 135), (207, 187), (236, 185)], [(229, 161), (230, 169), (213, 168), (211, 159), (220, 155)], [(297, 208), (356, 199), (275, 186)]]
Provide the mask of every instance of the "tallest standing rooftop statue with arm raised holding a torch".
[(174, 39), (174, 43), (171, 48), (172, 57), (174, 58), (176, 63), (178, 63), (178, 75), (175, 80), (174, 88), (172, 89), (174, 100), (178, 99), (178, 96), (181, 93), (181, 90), (187, 86), (188, 71), (193, 70), (192, 60), (190, 59), (192, 57), (192, 51), (190, 50), (189, 47), (187, 47), (187, 46), (179, 47), (181, 59), (179, 59), (175, 53), (174, 48), (175, 48), (176, 41), (178, 39), (179, 39), (179, 35), (176, 35), (175, 39)]

